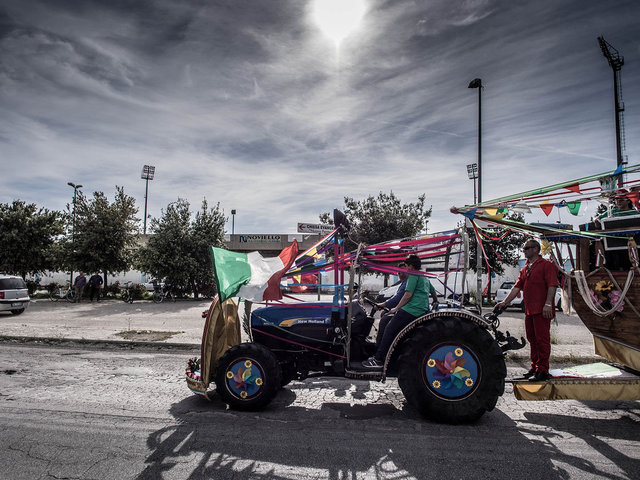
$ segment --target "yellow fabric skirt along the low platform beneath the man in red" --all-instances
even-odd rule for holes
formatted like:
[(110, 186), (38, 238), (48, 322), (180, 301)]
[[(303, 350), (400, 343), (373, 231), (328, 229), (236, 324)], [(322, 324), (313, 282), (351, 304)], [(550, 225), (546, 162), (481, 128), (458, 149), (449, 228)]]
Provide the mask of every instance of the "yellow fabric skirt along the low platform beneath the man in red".
[(640, 379), (514, 382), (513, 394), (518, 400), (640, 400)]

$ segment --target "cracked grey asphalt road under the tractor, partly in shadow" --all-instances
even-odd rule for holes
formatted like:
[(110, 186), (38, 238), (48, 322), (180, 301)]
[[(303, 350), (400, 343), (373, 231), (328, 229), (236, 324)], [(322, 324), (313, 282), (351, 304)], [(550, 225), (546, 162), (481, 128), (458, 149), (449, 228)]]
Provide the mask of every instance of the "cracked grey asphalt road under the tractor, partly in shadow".
[[(0, 344), (0, 478), (616, 478), (640, 472), (639, 402), (517, 402), (422, 420), (386, 384), (292, 382), (259, 413), (192, 395), (194, 352)], [(514, 367), (510, 367), (514, 374)]]

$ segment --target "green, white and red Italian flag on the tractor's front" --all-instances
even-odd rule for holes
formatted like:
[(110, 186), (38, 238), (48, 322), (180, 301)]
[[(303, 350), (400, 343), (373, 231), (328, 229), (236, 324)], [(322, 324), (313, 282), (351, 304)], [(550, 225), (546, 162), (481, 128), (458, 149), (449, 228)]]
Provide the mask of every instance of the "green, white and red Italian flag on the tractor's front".
[(298, 255), (298, 242), (277, 257), (264, 258), (258, 252), (239, 253), (211, 247), (213, 274), (220, 302), (242, 297), (254, 302), (280, 300), (280, 280)]

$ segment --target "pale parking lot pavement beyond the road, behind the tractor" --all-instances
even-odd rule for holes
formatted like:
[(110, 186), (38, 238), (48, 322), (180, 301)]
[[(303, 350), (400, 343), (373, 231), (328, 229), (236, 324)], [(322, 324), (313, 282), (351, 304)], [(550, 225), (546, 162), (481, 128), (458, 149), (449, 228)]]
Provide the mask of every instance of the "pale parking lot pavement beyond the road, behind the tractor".
[[(317, 301), (317, 295), (300, 295)], [(331, 297), (322, 296), (323, 301)], [(58, 340), (153, 341), (199, 345), (204, 319), (202, 312), (211, 300), (178, 300), (160, 304), (135, 301), (103, 300), (80, 304), (38, 299), (21, 315), (0, 314), (0, 336), (36, 337)], [(485, 309), (487, 313), (489, 309)], [(580, 319), (574, 315), (557, 316), (552, 323), (552, 360), (596, 359), (593, 339)], [(524, 333), (524, 315), (508, 310), (500, 316), (500, 330), (519, 338)], [(509, 353), (511, 360), (528, 358), (529, 349)]]

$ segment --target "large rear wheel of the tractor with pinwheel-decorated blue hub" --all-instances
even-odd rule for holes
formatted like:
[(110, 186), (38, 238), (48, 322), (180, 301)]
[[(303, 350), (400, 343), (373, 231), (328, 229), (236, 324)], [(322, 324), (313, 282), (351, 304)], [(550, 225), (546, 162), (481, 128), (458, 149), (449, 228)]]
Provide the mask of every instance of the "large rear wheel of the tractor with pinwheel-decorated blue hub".
[(435, 318), (403, 344), (398, 383), (407, 402), (438, 422), (471, 423), (504, 393), (507, 367), (487, 330), (471, 320)]

